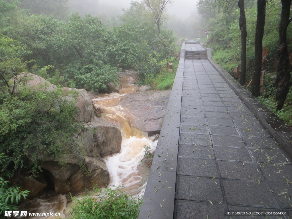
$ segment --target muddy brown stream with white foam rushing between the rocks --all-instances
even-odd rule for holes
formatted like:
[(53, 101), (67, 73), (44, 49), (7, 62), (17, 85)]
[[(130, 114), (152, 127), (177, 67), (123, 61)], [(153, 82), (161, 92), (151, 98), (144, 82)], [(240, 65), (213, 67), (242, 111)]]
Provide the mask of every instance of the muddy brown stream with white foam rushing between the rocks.
[[(140, 131), (143, 124), (138, 122), (135, 115), (125, 107), (119, 105), (119, 100), (127, 93), (133, 93), (138, 88), (134, 85), (136, 72), (126, 71), (119, 73), (122, 89), (119, 93), (99, 94), (93, 99), (95, 107), (101, 109), (103, 117), (116, 124), (122, 135), (121, 150), (117, 154), (103, 157), (110, 173), (109, 185), (124, 185), (128, 194), (141, 196), (144, 193), (149, 167), (141, 163), (145, 154), (144, 146), (150, 146), (154, 151), (157, 141), (148, 137), (148, 133)], [(32, 213), (60, 212), (61, 218), (69, 216), (70, 198), (57, 192), (49, 192), (27, 202), (24, 211)], [(25, 217), (30, 219), (40, 216)], [(57, 216), (44, 217), (48, 219), (60, 218)]]

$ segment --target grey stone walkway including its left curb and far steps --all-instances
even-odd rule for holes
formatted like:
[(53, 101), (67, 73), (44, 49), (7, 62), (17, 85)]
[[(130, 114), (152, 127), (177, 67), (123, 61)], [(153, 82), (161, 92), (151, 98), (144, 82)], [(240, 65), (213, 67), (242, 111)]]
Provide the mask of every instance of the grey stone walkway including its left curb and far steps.
[[(185, 54), (206, 51), (189, 43)], [(291, 211), (291, 158), (209, 60), (196, 58), (180, 61), (139, 219)]]

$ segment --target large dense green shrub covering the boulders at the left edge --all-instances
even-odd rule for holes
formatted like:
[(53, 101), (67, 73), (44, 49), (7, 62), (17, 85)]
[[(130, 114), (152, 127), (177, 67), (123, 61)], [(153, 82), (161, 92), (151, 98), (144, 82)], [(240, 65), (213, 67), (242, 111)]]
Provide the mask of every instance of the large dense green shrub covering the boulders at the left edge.
[[(74, 93), (18, 88), (18, 93), (0, 92), (0, 153), (5, 153), (1, 171), (26, 168), (37, 176), (44, 157), (79, 157), (76, 135), (81, 124), (74, 121), (76, 107), (68, 102)], [(29, 157), (29, 161), (28, 158)]]

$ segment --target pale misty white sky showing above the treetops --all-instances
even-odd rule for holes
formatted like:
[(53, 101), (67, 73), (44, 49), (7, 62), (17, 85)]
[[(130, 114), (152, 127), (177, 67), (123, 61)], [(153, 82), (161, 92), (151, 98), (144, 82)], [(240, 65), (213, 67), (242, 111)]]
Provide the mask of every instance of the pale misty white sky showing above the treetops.
[[(97, 16), (106, 25), (117, 26), (121, 24), (119, 17), (123, 11), (131, 6), (132, 0), (69, 0), (67, 6), (70, 11), (78, 12), (84, 16), (91, 14)], [(137, 1), (140, 3), (140, 1)], [(195, 39), (197, 31), (201, 29), (201, 18), (197, 13), (198, 0), (173, 0), (167, 7), (168, 20), (163, 28), (171, 29), (176, 38), (187, 37)]]

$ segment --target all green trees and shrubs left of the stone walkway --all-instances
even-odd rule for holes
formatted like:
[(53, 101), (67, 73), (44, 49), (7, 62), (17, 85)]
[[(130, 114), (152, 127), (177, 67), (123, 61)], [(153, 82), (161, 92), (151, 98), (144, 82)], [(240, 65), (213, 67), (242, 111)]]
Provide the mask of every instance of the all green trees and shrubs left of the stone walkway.
[[(121, 68), (137, 69), (139, 84), (152, 88), (171, 88), (173, 82), (174, 74), (168, 74), (165, 68), (173, 61), (173, 34), (162, 27), (157, 29), (144, 4), (132, 2), (116, 22), (120, 25), (113, 27), (90, 14), (70, 13), (66, 3), (0, 1), (0, 153), (5, 153), (1, 157), (0, 198), (5, 201), (5, 209), (13, 209), (27, 195), (27, 191), (8, 185), (13, 173), (26, 170), (36, 177), (46, 157), (63, 165), (66, 154), (84, 160), (76, 140), (83, 128), (75, 122), (77, 94), (64, 93), (60, 87), (104, 92), (109, 83), (118, 83), (116, 73)], [(58, 88), (29, 88), (28, 73)], [(109, 205), (116, 206), (112, 218), (137, 216), (140, 199), (128, 197), (119, 188), (107, 190), (106, 195), (112, 197), (112, 203), (104, 202), (100, 211)], [(83, 212), (72, 214), (83, 217)], [(84, 214), (84, 218), (90, 218), (89, 212)], [(105, 218), (105, 214), (100, 215)]]

